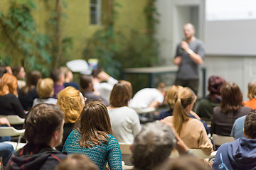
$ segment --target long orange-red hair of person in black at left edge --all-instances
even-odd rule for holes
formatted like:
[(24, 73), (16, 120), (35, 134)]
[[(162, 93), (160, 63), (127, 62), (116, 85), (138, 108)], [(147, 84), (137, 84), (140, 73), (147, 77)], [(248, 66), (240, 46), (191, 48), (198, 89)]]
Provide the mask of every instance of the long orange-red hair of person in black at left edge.
[(4, 96), (10, 93), (17, 95), (17, 86), (17, 79), (13, 74), (4, 74), (0, 82), (0, 96)]

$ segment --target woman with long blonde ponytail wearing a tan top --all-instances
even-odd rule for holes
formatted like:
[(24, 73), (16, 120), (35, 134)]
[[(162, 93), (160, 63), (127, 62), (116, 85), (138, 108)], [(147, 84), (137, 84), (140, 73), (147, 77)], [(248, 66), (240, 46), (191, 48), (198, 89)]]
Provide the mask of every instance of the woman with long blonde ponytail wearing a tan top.
[(164, 118), (164, 121), (174, 124), (174, 128), (186, 146), (191, 149), (202, 149), (207, 155), (213, 151), (206, 129), (200, 120), (190, 118), (196, 95), (188, 87), (184, 87), (177, 94), (177, 101), (174, 105), (174, 116)]

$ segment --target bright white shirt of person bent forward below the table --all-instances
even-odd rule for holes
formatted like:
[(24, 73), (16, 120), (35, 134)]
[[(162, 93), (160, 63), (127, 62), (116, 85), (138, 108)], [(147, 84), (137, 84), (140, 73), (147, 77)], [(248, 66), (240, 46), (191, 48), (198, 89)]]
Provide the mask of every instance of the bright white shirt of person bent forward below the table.
[(129, 103), (131, 108), (148, 108), (150, 103), (157, 101), (162, 103), (164, 101), (163, 94), (160, 93), (157, 89), (154, 88), (145, 88), (138, 91), (132, 101)]

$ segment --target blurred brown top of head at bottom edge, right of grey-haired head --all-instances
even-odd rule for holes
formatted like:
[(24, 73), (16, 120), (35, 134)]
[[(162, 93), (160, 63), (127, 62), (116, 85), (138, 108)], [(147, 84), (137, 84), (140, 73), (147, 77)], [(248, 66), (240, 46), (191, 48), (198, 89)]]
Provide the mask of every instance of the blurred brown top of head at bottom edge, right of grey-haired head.
[[(163, 165), (157, 167), (161, 170), (210, 170), (210, 167), (203, 162), (203, 160), (196, 159), (196, 157), (178, 157), (176, 159), (169, 159)], [(154, 170), (157, 170), (154, 169)]]

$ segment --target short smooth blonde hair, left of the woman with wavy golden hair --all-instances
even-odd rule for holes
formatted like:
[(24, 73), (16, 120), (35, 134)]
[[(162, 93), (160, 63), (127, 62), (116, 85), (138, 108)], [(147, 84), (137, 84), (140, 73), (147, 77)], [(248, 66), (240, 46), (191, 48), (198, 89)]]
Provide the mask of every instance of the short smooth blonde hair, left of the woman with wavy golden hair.
[(36, 92), (40, 98), (48, 98), (51, 97), (51, 93), (53, 91), (53, 79), (46, 78), (41, 79), (36, 84)]

